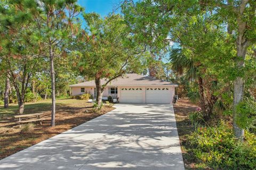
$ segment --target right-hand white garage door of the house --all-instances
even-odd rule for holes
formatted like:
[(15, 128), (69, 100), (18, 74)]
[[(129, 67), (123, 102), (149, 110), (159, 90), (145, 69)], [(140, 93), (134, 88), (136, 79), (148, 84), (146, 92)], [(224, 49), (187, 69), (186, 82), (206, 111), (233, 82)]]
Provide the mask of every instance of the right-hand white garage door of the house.
[(146, 88), (146, 103), (169, 104), (171, 101), (171, 88)]

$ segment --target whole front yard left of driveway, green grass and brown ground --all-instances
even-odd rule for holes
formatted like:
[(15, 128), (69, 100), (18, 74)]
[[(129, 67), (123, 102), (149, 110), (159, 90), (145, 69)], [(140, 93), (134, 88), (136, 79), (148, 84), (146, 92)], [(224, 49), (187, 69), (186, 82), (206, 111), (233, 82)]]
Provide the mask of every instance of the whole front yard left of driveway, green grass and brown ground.
[[(113, 107), (103, 107), (100, 113), (93, 112), (93, 104), (86, 100), (62, 98), (56, 100), (55, 127), (50, 127), (51, 122), (51, 100), (41, 100), (37, 103), (26, 103), (24, 114), (44, 113), (45, 121), (30, 124), (26, 128), (14, 129), (8, 124), (0, 123), (0, 159), (14, 154), (22, 149), (28, 148), (36, 143), (53, 137), (61, 132), (67, 131), (90, 121), (95, 117), (105, 114)], [(10, 117), (18, 114), (18, 105), (10, 104), (9, 108), (0, 106), (0, 116)], [(27, 125), (28, 126), (28, 125)]]

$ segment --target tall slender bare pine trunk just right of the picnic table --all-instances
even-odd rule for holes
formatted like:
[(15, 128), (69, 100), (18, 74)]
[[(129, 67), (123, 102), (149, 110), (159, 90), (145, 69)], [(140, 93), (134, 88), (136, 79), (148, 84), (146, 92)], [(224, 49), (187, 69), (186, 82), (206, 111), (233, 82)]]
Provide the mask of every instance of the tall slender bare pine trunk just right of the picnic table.
[(51, 60), (51, 87), (52, 87), (52, 117), (51, 117), (51, 126), (55, 126), (55, 72), (54, 72), (54, 54), (53, 54), (53, 49), (50, 47), (49, 50), (50, 53), (50, 60)]

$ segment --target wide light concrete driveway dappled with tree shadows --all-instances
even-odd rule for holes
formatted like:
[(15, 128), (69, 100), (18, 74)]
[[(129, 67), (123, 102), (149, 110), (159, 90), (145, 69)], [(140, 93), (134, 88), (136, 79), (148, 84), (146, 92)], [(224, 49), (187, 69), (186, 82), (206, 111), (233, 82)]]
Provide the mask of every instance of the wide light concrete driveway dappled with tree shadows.
[(184, 169), (172, 105), (115, 107), (0, 160), (0, 169)]

